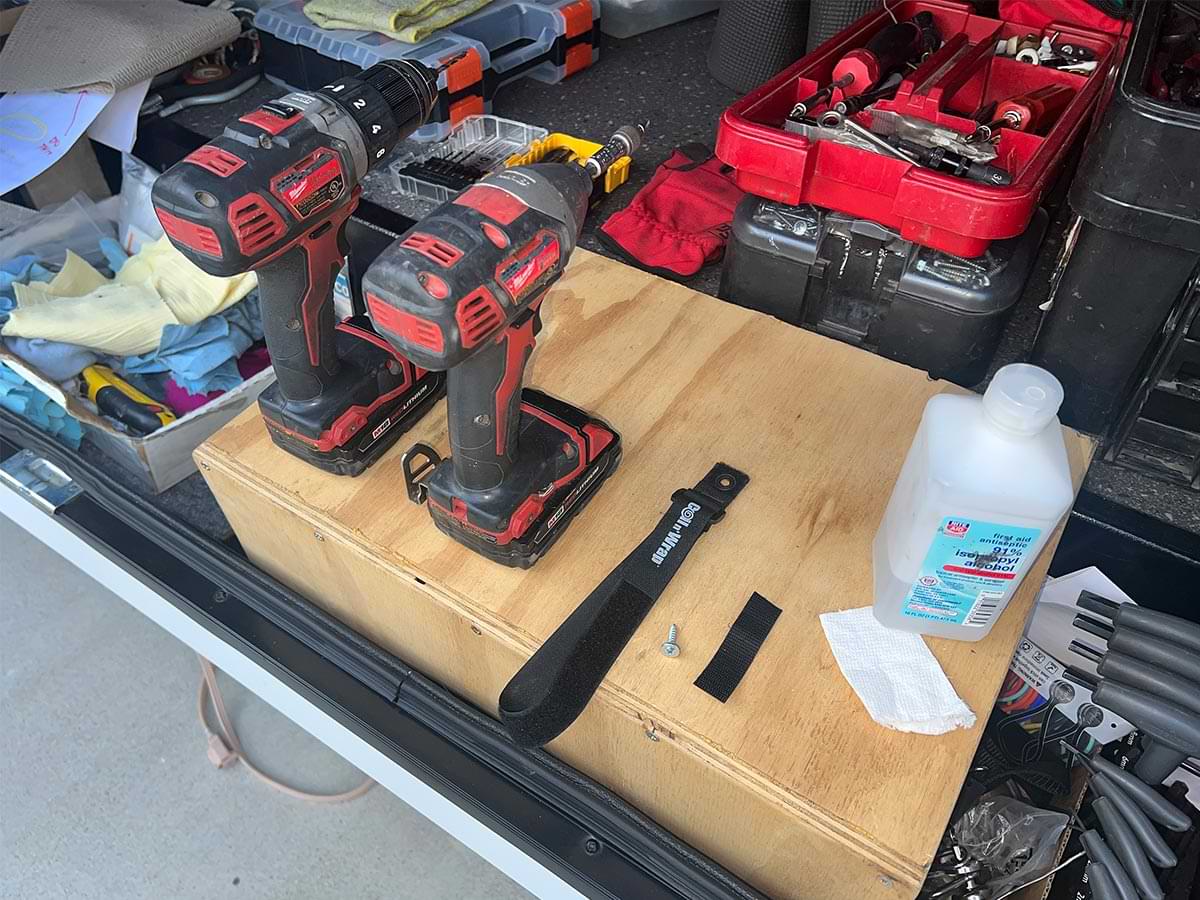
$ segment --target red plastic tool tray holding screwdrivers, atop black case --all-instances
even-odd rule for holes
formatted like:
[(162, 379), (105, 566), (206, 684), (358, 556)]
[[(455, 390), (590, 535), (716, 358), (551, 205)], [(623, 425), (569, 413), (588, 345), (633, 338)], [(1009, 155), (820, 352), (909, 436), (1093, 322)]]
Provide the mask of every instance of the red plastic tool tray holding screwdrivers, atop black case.
[[(1014, 238), (1028, 227), (1117, 62), (1120, 38), (1067, 23), (1032, 29), (977, 16), (954, 0), (904, 0), (888, 6), (726, 109), (716, 133), (716, 155), (737, 170), (738, 186), (750, 193), (870, 218), (898, 229), (906, 240), (977, 257), (991, 241)], [(970, 134), (978, 125), (976, 116), (994, 102), (1045, 85), (1075, 89), (1044, 133), (1001, 130), (994, 164), (1010, 173), (1012, 182), (1006, 186), (970, 181), (833, 140), (810, 140), (782, 127), (796, 103), (832, 80), (834, 66), (847, 50), (865, 44), (892, 24), (893, 16), (904, 22), (922, 11), (934, 16), (942, 47), (905, 77), (892, 100), (881, 100), (875, 108)], [(1098, 65), (1078, 74), (996, 55), (1000, 41), (1028, 34), (1086, 47)], [(870, 115), (866, 109), (857, 120), (870, 125)]]

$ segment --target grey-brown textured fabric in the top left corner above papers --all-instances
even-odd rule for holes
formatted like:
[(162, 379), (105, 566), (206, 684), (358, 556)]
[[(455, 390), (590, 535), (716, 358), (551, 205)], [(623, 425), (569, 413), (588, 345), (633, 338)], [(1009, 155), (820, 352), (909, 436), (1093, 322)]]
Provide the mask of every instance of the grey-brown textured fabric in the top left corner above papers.
[(0, 91), (121, 90), (240, 31), (233, 13), (178, 0), (34, 0), (0, 52)]

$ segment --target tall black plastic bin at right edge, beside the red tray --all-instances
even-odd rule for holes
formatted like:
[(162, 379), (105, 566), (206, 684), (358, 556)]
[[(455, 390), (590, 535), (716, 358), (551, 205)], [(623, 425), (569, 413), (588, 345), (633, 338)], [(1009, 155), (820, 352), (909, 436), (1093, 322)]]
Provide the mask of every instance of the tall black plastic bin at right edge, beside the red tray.
[(1066, 390), (1060, 418), (1111, 437), (1200, 274), (1200, 109), (1146, 85), (1171, 4), (1147, 2), (1070, 188), (1068, 234), (1033, 361)]

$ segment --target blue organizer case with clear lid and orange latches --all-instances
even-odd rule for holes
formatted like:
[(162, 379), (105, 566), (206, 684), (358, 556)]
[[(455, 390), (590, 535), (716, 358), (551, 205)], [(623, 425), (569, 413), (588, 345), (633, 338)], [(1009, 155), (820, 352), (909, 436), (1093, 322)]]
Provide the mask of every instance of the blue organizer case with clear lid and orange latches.
[(437, 103), (415, 140), (443, 140), (467, 116), (490, 113), (496, 91), (509, 82), (557, 84), (600, 58), (600, 0), (493, 0), (416, 44), (376, 31), (317, 28), (304, 5), (286, 0), (254, 16), (266, 77), (288, 88), (319, 88), (384, 59), (438, 66), (466, 52), (439, 76)]

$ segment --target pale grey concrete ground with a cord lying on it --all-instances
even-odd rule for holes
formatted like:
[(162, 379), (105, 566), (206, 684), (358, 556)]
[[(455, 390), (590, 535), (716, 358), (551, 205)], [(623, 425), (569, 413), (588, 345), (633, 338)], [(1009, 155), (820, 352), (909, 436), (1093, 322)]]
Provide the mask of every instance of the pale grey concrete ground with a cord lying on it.
[[(214, 768), (196, 655), (4, 517), (0, 672), (0, 896), (529, 896), (382, 787), (313, 805)], [(266, 772), (320, 792), (360, 781), (221, 678)]]

